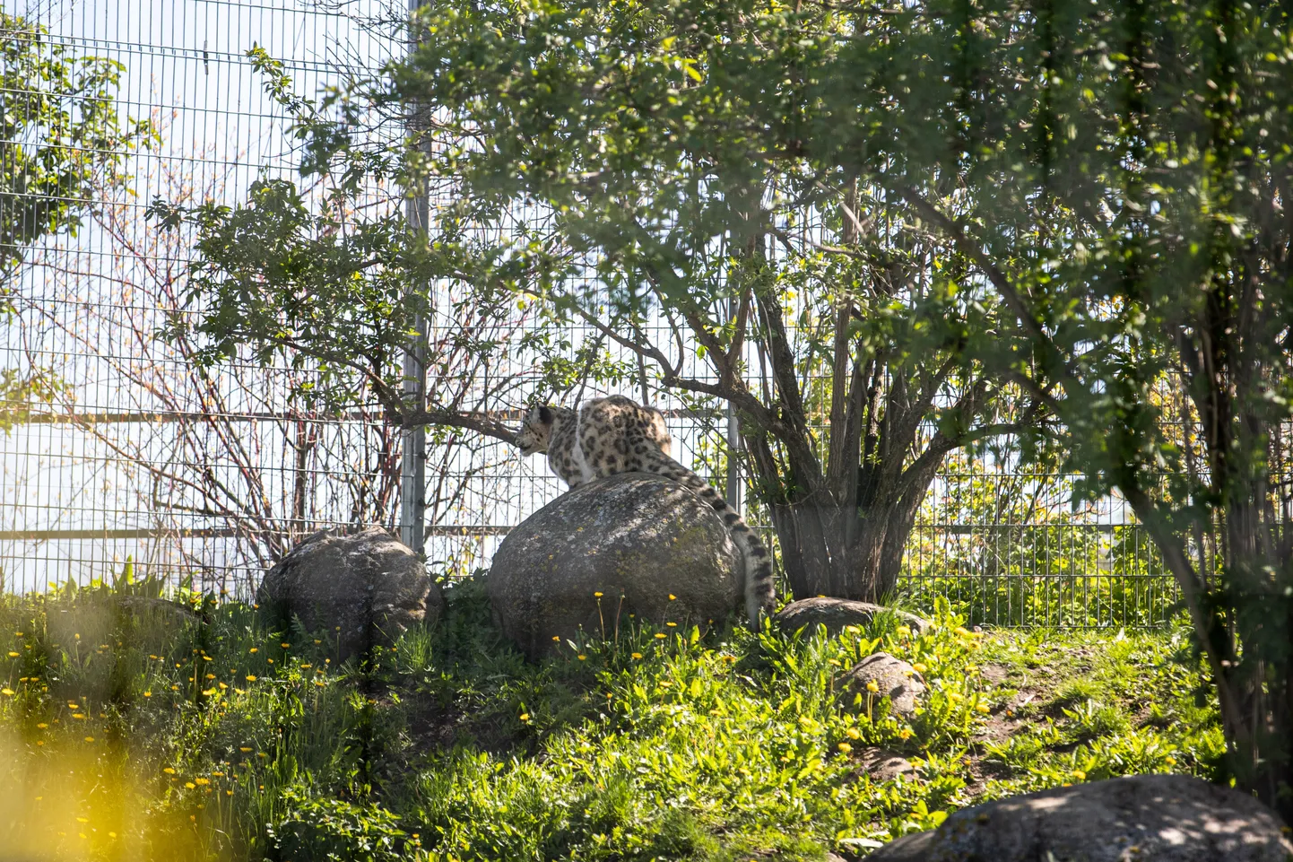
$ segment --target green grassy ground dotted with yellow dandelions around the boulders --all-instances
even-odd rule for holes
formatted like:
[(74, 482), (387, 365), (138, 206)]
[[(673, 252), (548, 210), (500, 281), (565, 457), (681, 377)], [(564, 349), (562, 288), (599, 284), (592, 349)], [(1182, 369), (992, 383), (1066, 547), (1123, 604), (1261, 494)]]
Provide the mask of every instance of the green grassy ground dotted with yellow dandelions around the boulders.
[[(526, 664), (475, 582), (366, 663), (186, 594), (0, 597), (0, 841), (30, 859), (821, 859), (1107, 775), (1213, 777), (1183, 630), (837, 638), (665, 629)], [(913, 721), (840, 703), (886, 650)], [(209, 674), (209, 676), (208, 676)], [(9, 694), (12, 692), (12, 694)], [(914, 771), (873, 779), (896, 752)]]

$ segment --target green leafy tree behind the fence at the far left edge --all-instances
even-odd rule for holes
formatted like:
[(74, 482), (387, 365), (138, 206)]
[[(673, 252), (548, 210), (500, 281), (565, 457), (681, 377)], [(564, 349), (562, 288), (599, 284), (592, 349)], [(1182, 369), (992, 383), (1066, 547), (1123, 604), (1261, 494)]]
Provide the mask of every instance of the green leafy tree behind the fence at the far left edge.
[[(122, 119), (116, 87), (123, 66), (69, 57), (44, 27), (0, 12), (0, 315), (14, 311), (12, 280), (43, 237), (75, 233), (93, 192), (120, 182), (127, 148), (153, 138), (146, 120)], [(58, 381), (39, 368), (0, 371), (0, 401), (48, 400)], [(17, 413), (21, 413), (18, 410)], [(8, 427), (16, 412), (0, 410)]]

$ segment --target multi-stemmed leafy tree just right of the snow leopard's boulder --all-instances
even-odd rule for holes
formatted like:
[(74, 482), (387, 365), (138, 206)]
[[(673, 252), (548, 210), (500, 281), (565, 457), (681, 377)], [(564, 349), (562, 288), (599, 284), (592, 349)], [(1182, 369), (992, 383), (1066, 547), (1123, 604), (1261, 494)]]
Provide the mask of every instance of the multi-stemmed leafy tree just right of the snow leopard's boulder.
[[(795, 595), (875, 599), (943, 458), (1040, 414), (914, 313), (997, 326), (997, 305), (945, 290), (965, 255), (808, 142), (830, 127), (813, 91), (853, 21), (749, 1), (433, 3), (416, 52), (366, 96), (409, 116), (434, 106), (407, 167), (454, 184), (442, 236), (521, 208), (494, 251), (526, 268), (509, 290), (688, 403), (736, 410), (745, 452), (729, 457)], [(313, 153), (353, 151), (345, 123), (306, 133)], [(460, 277), (481, 290), (478, 274)]]

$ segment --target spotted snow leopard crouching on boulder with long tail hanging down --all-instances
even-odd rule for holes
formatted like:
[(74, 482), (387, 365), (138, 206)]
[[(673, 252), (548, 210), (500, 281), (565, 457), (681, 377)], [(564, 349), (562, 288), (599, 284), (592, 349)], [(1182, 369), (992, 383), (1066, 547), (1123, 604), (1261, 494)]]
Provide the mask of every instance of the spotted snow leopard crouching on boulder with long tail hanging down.
[(622, 395), (584, 401), (578, 414), (566, 408), (535, 406), (516, 435), (521, 454), (548, 453), (548, 466), (572, 488), (618, 472), (652, 472), (685, 485), (712, 506), (745, 557), (745, 607), (759, 630), (772, 610), (772, 557), (721, 494), (670, 457), (672, 440), (665, 417)]

